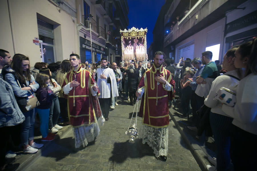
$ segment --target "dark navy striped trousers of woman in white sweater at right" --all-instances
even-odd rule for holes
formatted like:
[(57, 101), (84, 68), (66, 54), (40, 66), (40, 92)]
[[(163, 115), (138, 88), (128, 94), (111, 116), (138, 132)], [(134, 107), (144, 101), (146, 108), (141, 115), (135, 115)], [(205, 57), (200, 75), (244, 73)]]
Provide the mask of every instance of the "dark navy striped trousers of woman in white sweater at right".
[(217, 170), (226, 171), (230, 166), (230, 127), (233, 118), (210, 112), (210, 125), (216, 144)]

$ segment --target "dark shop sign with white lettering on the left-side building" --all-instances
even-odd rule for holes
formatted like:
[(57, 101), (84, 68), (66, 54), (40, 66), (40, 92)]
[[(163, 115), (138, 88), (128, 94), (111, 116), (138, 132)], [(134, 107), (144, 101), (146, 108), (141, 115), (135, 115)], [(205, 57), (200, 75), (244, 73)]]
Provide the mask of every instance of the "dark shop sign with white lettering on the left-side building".
[[(91, 44), (90, 40), (87, 40), (83, 37), (79, 37), (79, 42), (80, 42), (80, 48), (91, 50)], [(99, 46), (98, 44), (95, 44), (92, 42), (92, 51), (101, 53), (101, 54), (107, 54), (106, 49), (102, 46)]]

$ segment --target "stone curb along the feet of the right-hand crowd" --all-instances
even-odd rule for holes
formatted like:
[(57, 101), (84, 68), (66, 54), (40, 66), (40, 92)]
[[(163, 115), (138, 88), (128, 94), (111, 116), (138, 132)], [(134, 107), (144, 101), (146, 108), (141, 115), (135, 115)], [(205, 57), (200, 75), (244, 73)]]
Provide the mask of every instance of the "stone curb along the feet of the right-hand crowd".
[[(186, 134), (182, 131), (181, 127), (179, 126), (178, 122), (176, 121), (176, 119), (174, 118), (174, 116), (171, 114), (170, 110), (169, 110), (169, 115), (172, 119), (172, 121), (174, 122), (176, 128), (178, 129), (178, 132), (180, 133), (182, 139), (185, 141), (186, 145), (188, 146), (188, 149), (190, 150), (190, 152), (192, 153), (192, 155), (194, 156), (196, 162), (198, 163), (200, 169), (202, 171), (206, 170), (206, 164), (204, 162), (204, 160), (202, 160), (204, 152), (202, 150), (196, 150), (196, 149), (200, 149), (200, 147), (198, 146), (198, 144), (194, 144), (194, 146), (192, 145), (192, 143), (189, 141), (189, 139), (187, 138)], [(197, 148), (198, 146), (198, 148)], [(202, 153), (202, 154), (200, 154)]]

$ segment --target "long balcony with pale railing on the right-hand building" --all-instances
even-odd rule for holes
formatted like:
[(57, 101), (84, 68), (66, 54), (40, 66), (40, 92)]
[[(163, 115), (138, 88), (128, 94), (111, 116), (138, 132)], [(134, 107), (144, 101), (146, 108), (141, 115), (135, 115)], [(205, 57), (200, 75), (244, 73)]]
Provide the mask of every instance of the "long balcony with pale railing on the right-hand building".
[[(225, 17), (227, 11), (236, 9), (246, 0), (198, 0), (188, 13), (173, 26), (173, 32), (164, 38), (164, 47), (177, 44), (199, 30)], [(168, 43), (168, 44), (167, 44)]]

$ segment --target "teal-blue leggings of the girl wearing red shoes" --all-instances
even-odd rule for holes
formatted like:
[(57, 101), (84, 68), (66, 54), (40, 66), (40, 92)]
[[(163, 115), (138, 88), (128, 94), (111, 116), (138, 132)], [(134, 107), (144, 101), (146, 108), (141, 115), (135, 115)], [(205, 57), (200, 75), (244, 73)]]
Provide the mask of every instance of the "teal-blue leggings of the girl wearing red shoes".
[(40, 119), (40, 133), (43, 138), (47, 136), (48, 131), (48, 121), (49, 121), (49, 109), (37, 109), (36, 111)]

